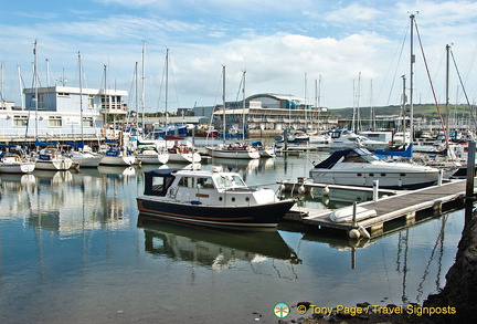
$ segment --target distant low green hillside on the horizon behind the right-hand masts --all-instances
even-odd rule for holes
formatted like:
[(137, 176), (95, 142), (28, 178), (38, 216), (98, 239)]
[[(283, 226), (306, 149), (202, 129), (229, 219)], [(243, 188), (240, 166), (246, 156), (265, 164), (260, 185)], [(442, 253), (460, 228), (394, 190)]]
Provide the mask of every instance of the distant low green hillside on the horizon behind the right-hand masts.
[[(409, 107), (407, 107), (409, 108)], [(441, 113), (446, 114), (445, 105), (439, 106)], [(466, 115), (469, 113), (468, 105), (451, 106), (451, 114), (457, 113), (458, 115)], [(341, 118), (352, 118), (352, 108), (339, 108), (330, 109), (330, 112), (338, 114)], [(401, 106), (386, 106), (386, 107), (374, 107), (374, 114), (377, 116), (383, 115), (399, 115), (401, 113)], [(370, 107), (360, 107), (361, 118), (370, 117)], [(438, 118), (437, 107), (431, 104), (414, 105), (414, 117), (426, 117), (426, 118)]]

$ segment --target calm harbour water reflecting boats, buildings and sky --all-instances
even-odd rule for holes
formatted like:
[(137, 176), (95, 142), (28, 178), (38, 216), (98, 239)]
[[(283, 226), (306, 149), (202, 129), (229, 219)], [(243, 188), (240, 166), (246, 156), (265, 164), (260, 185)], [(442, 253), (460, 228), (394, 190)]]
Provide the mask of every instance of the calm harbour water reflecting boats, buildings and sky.
[[(305, 155), (218, 164), (271, 188), (311, 168)], [(0, 323), (277, 323), (279, 302), (422, 303), (445, 284), (464, 226), (454, 211), (352, 249), (296, 226), (151, 223), (136, 207), (151, 168), (1, 175)]]

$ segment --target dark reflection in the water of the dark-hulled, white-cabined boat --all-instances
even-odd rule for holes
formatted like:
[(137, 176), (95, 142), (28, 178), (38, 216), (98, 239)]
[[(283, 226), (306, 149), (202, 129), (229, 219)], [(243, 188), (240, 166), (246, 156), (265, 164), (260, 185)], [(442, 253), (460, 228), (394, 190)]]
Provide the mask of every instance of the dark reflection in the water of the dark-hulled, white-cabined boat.
[(239, 261), (261, 263), (268, 259), (300, 263), (278, 231), (240, 231), (197, 227), (157, 220), (140, 213), (145, 249), (151, 254), (189, 261), (212, 270), (231, 268)]

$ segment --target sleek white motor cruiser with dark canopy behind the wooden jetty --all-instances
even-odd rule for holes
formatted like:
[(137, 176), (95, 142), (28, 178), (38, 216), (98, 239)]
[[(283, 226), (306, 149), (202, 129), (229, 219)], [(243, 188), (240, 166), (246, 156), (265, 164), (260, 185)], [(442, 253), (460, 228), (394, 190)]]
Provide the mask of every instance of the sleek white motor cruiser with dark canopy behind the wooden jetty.
[(415, 189), (435, 185), (439, 170), (411, 163), (386, 161), (362, 147), (337, 150), (316, 165), (309, 176), (315, 182), (380, 188)]

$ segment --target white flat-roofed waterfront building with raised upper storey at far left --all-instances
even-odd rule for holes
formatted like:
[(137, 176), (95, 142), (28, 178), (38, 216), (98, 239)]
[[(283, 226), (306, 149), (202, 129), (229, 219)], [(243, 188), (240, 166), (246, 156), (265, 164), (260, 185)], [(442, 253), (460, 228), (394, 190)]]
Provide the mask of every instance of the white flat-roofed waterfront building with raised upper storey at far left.
[[(0, 140), (105, 137), (105, 125), (128, 113), (126, 91), (68, 86), (24, 88), (24, 104), (0, 102)], [(82, 127), (83, 125), (83, 127)]]

